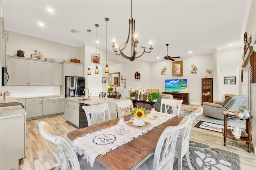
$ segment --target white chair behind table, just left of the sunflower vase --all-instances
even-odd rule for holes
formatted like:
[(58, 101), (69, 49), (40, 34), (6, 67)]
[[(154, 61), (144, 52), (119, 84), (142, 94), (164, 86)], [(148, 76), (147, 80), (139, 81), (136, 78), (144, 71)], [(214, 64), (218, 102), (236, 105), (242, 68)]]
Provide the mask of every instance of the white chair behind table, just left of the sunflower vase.
[(117, 112), (119, 117), (123, 117), (130, 114), (130, 109), (134, 109), (133, 103), (130, 99), (124, 101), (115, 101)]

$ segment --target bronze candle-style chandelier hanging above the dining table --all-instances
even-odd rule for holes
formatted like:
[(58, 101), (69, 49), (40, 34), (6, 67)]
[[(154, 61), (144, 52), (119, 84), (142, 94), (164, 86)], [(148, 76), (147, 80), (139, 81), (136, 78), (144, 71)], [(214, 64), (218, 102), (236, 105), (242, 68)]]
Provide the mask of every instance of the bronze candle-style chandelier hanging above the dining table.
[[(132, 0), (131, 0), (131, 18), (132, 18)], [(132, 29), (130, 29), (132, 28)], [(130, 32), (131, 31), (131, 32)], [(129, 39), (131, 37), (131, 55), (126, 55), (124, 54), (124, 49), (126, 48)], [(142, 48), (142, 52), (140, 55), (137, 56), (137, 47), (141, 47)], [(112, 48), (114, 50), (114, 52), (116, 53), (116, 55), (122, 55), (124, 58), (129, 59), (130, 61), (134, 61), (134, 59), (141, 57), (144, 53), (150, 53), (151, 50), (153, 49), (152, 47), (152, 40), (150, 40), (150, 47), (149, 47), (149, 51), (146, 51), (146, 47), (143, 47), (142, 45), (140, 45), (140, 43), (138, 42), (138, 34), (135, 31), (135, 20), (129, 19), (129, 32), (128, 32), (128, 38), (126, 40), (126, 42), (123, 45), (117, 45), (115, 44), (115, 40), (113, 40), (112, 42)]]

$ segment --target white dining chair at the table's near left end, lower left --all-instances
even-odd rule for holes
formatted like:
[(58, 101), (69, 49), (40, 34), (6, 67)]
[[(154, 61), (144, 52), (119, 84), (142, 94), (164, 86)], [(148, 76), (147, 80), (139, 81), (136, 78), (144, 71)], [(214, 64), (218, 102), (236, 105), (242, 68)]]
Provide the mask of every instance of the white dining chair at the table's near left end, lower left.
[(78, 161), (77, 155), (73, 147), (69, 144), (69, 142), (66, 139), (60, 136), (56, 136), (56, 133), (48, 123), (41, 121), (39, 122), (38, 126), (39, 126), (40, 134), (46, 140), (49, 140), (50, 142), (56, 144), (61, 170), (101, 170), (103, 169), (96, 162), (92, 167), (90, 166), (90, 163), (88, 163), (85, 159)]

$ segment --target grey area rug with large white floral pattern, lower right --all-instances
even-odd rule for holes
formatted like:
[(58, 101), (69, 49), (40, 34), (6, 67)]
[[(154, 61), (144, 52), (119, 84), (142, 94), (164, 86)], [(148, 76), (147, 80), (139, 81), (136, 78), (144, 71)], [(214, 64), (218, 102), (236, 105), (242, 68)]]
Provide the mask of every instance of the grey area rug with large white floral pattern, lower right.
[[(189, 157), (194, 170), (240, 170), (240, 156), (226, 150), (212, 148), (206, 144), (190, 140)], [(177, 159), (174, 170), (178, 170)], [(190, 170), (186, 156), (182, 160), (182, 170)]]

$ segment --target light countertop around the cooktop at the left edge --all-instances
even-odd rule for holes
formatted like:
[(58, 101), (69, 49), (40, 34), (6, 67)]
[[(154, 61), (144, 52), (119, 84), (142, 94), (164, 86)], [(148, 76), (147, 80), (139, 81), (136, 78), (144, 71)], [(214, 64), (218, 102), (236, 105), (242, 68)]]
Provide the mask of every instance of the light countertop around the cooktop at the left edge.
[[(12, 103), (18, 102), (16, 98), (4, 98), (0, 103)], [(0, 119), (6, 119), (11, 117), (19, 117), (27, 115), (26, 111), (22, 108), (22, 106), (8, 106), (8, 107), (0, 107)]]

